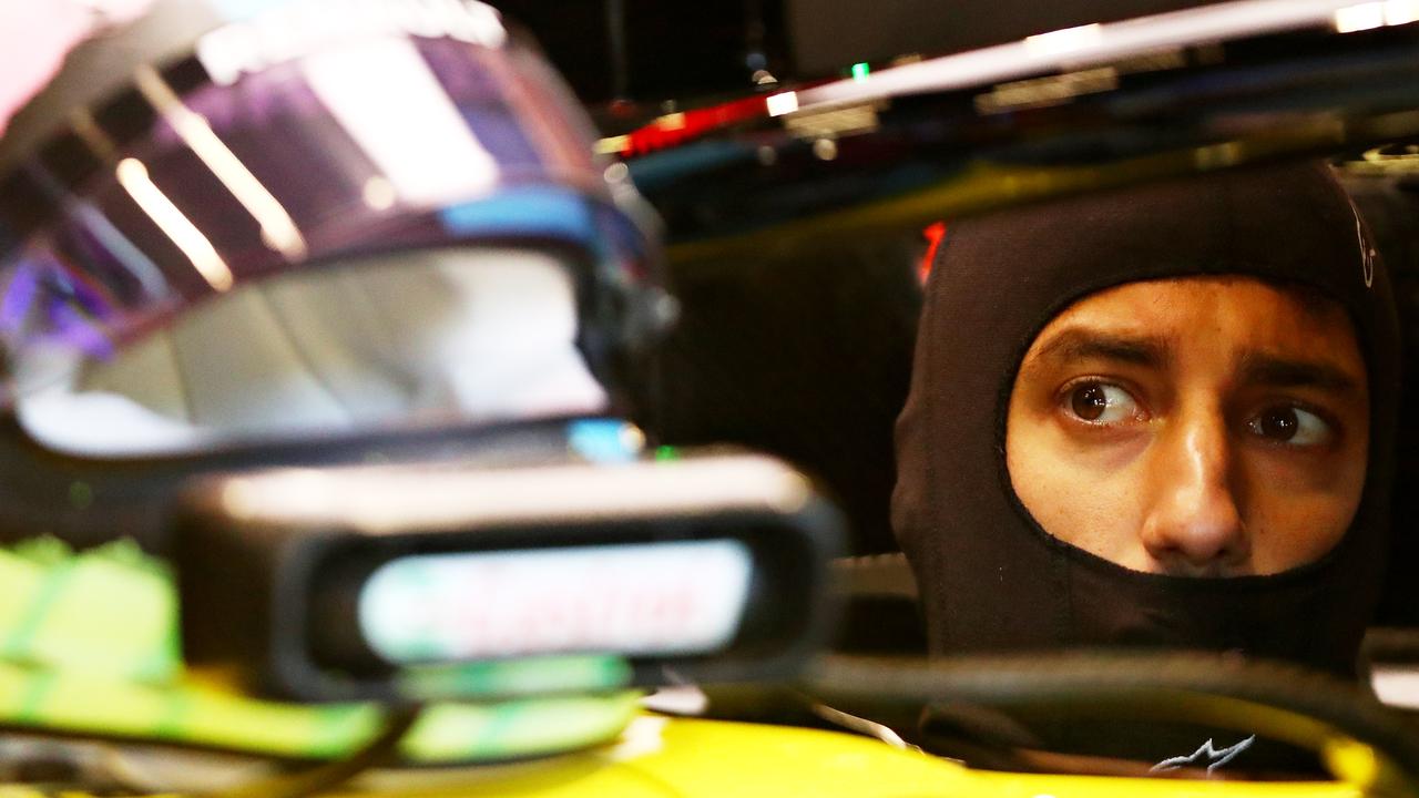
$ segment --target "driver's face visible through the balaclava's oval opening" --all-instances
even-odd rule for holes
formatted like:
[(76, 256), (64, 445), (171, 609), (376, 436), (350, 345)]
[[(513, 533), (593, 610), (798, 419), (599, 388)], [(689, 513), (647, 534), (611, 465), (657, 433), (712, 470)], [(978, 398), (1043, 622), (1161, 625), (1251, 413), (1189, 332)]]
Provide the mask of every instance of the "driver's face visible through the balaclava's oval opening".
[(1010, 481), (1046, 531), (1193, 576), (1323, 557), (1359, 505), (1368, 446), (1345, 311), (1242, 277), (1071, 305), (1025, 355), (1006, 422)]

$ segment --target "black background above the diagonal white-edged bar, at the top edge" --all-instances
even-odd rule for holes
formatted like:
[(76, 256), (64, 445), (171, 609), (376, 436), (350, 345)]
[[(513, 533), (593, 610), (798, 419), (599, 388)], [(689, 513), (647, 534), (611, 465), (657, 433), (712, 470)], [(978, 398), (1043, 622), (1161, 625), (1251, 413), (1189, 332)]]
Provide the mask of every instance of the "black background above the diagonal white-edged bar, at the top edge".
[[(1199, 0), (498, 0), (587, 104), (658, 104), (751, 88), (761, 61), (780, 80), (832, 77), (857, 61), (935, 55)], [(617, 40), (624, 47), (616, 48)], [(616, 57), (620, 53), (620, 60)], [(617, 64), (624, 70), (617, 77)]]

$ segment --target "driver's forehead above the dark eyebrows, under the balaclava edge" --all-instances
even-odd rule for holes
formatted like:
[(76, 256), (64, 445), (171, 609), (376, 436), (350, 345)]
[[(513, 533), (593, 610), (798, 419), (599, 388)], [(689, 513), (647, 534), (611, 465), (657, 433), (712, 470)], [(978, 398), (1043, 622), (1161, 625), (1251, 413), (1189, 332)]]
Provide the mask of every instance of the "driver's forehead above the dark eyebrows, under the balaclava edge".
[(1080, 329), (1165, 339), (1183, 348), (1325, 354), (1362, 362), (1354, 325), (1340, 302), (1250, 277), (1148, 280), (1090, 294), (1056, 315), (1030, 349)]

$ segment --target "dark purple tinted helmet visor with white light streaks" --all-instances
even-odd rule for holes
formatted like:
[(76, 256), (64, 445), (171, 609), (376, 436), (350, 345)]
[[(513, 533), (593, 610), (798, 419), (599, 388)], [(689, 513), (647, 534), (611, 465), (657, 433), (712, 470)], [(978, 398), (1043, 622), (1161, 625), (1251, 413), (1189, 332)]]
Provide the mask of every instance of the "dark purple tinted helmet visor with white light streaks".
[(399, 268), (393, 253), (458, 246), (555, 251), (583, 273), (583, 324), (596, 284), (644, 277), (641, 230), (583, 116), (515, 44), (372, 37), (230, 85), (189, 72), (139, 70), (135, 91), (75, 114), (60, 138), (101, 163), (82, 179), (45, 152), (4, 177), (0, 226), (26, 231), (0, 236), (11, 402), (295, 270), (370, 256)]

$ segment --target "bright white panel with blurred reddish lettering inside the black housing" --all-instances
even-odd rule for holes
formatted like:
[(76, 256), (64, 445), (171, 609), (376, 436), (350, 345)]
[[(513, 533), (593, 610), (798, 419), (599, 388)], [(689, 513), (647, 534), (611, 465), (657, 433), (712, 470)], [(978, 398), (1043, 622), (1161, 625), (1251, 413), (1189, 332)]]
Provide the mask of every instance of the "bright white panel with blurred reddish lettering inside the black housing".
[(735, 540), (400, 557), (363, 584), (358, 619), (397, 665), (697, 655), (734, 639), (752, 574)]

